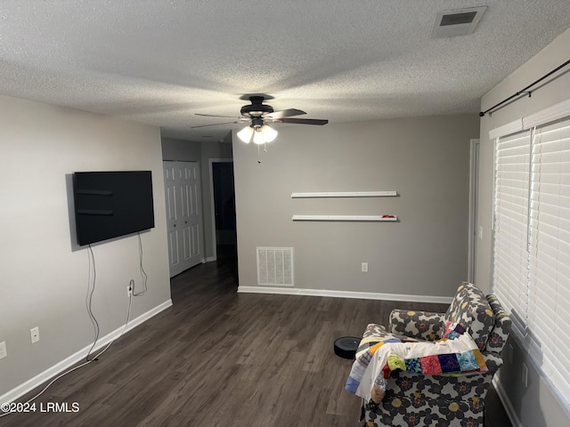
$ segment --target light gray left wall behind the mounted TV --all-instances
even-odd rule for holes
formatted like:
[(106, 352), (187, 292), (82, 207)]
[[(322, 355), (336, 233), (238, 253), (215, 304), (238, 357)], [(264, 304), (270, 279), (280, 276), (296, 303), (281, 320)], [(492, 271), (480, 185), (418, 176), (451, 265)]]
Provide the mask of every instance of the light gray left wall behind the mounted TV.
[[(0, 97), (0, 397), (94, 342), (89, 263), (72, 241), (70, 174), (151, 170), (154, 229), (142, 232), (148, 291), (132, 316), (170, 302), (159, 128)], [(101, 336), (125, 324), (126, 286), (142, 289), (136, 236), (93, 246)], [(31, 344), (29, 329), (39, 326)], [(85, 355), (83, 355), (85, 357)]]

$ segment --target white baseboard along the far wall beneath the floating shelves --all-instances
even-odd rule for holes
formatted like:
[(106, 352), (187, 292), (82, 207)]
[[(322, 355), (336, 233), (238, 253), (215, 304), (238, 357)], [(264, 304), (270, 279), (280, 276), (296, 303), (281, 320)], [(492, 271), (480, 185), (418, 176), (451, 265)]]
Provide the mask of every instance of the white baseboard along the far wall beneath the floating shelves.
[(355, 298), (359, 300), (384, 300), (403, 302), (436, 302), (451, 304), (451, 296), (408, 295), (408, 294), (381, 294), (376, 292), (332, 291), (327, 289), (303, 289), (299, 287), (279, 286), (238, 286), (238, 293), (242, 294), (282, 294), (330, 296), (334, 298)]

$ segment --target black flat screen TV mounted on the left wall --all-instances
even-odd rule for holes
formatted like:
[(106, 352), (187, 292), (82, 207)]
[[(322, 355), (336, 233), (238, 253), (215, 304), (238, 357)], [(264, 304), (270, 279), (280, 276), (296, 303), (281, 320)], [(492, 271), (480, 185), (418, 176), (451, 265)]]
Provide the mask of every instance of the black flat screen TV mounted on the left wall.
[(151, 171), (76, 172), (73, 198), (79, 246), (154, 227)]

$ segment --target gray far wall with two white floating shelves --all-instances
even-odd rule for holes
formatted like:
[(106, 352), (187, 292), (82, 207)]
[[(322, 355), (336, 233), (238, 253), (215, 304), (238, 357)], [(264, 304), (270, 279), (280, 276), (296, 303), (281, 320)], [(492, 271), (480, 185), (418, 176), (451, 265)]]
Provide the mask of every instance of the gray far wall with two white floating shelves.
[[(240, 286), (256, 286), (256, 246), (292, 246), (299, 288), (452, 296), (468, 273), (476, 115), (278, 130), (259, 164), (256, 146), (233, 138)], [(290, 197), (359, 190), (399, 197)], [(293, 214), (396, 214), (400, 222), (292, 222)]]

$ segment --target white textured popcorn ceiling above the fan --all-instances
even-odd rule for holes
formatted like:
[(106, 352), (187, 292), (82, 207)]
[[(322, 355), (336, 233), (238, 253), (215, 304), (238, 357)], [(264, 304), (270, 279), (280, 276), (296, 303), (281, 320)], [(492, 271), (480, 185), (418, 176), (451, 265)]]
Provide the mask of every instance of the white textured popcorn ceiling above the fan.
[[(437, 12), (480, 5), (488, 8), (474, 34), (430, 38)], [(3, 0), (0, 93), (159, 125), (163, 135), (193, 141), (243, 126), (191, 129), (225, 121), (195, 113), (238, 117), (251, 93), (330, 123), (477, 112), (483, 94), (570, 28), (568, 6)]]

